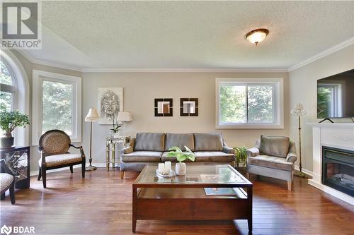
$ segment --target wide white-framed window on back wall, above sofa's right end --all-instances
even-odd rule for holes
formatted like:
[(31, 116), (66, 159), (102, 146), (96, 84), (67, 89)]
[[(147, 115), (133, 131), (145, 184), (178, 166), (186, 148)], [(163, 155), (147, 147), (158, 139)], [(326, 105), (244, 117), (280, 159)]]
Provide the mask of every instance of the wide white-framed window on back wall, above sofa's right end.
[(216, 128), (283, 128), (282, 78), (217, 78)]

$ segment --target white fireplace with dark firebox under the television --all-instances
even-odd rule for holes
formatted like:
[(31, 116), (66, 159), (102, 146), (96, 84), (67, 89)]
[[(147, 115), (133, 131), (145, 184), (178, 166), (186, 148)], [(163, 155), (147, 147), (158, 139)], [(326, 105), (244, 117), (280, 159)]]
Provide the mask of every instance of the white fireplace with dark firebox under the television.
[[(354, 196), (350, 191), (343, 192), (342, 190), (343, 187), (350, 185), (350, 183), (345, 184), (346, 181), (350, 182), (351, 178), (349, 176), (354, 175), (353, 173), (348, 174), (350, 173), (348, 169), (343, 167), (348, 164), (349, 160), (336, 159), (338, 158), (337, 153), (333, 152), (337, 150), (341, 154), (343, 152), (348, 154), (354, 152), (354, 123), (308, 124), (312, 126), (312, 179), (309, 179), (309, 184), (350, 205), (354, 205)], [(326, 152), (324, 152), (324, 149), (326, 149)], [(328, 155), (328, 157), (324, 158), (325, 155)], [(343, 162), (346, 164), (343, 164)], [(324, 169), (324, 164), (326, 169)], [(326, 174), (324, 174), (324, 170), (326, 170)], [(334, 183), (336, 184), (333, 185)]]

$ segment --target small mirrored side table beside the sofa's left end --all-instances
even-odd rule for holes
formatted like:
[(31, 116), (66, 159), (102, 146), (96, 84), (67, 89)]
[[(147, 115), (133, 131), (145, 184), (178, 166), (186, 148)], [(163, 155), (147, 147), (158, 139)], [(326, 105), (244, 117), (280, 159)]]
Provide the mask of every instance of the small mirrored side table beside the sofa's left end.
[[(108, 137), (105, 140), (105, 168), (110, 171), (110, 163), (115, 169), (115, 147), (123, 145), (127, 146), (130, 143), (130, 136)], [(119, 152), (119, 151), (118, 151)]]

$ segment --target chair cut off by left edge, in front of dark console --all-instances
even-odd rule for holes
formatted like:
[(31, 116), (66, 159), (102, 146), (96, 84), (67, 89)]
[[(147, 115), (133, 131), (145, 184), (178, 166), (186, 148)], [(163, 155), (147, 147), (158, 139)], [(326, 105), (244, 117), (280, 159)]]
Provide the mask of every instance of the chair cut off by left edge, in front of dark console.
[(5, 159), (0, 159), (0, 188), (1, 188), (1, 200), (5, 199), (5, 192), (10, 189), (11, 204), (15, 204), (15, 174), (6, 166)]

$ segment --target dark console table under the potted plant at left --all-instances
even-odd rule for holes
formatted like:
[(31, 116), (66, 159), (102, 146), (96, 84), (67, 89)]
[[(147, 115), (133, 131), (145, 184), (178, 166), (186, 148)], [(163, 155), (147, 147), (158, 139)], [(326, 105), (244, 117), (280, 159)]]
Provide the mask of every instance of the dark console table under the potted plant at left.
[(16, 188), (30, 188), (30, 147), (0, 149), (0, 155), (15, 173)]

